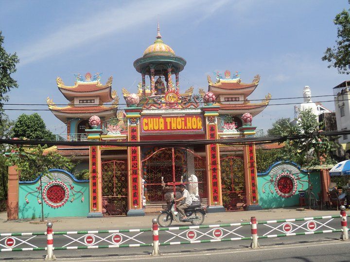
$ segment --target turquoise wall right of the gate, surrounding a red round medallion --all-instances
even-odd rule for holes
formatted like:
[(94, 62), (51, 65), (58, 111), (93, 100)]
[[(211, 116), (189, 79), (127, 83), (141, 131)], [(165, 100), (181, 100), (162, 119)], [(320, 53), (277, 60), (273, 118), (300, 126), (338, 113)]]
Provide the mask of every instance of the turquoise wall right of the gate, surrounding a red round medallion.
[[(292, 166), (294, 172), (299, 172), (299, 178), (300, 180), (306, 180), (306, 181), (297, 181), (297, 192), (292, 197), (281, 197), (277, 194), (274, 187), (274, 182), (271, 184), (269, 182), (270, 179), (276, 180), (276, 177), (278, 174), (282, 173), (281, 170), (282, 166), (288, 167)], [(291, 171), (288, 170), (287, 171)], [(273, 178), (271, 178), (271, 174), (273, 174)], [(296, 177), (296, 176), (295, 176)], [(300, 168), (294, 164), (294, 163), (283, 163), (283, 162), (277, 162), (273, 164), (265, 173), (259, 173), (258, 174), (258, 195), (259, 195), (259, 204), (263, 209), (269, 209), (269, 208), (280, 208), (280, 207), (290, 207), (290, 206), (297, 206), (299, 205), (299, 194), (298, 190), (301, 189), (303, 185), (303, 190), (308, 190), (308, 175), (306, 171), (300, 170)], [(310, 181), (312, 184), (312, 192), (315, 194), (315, 197), (318, 199), (318, 193), (321, 192), (321, 183), (320, 183), (320, 175), (319, 172), (312, 172), (310, 173)], [(267, 183), (266, 183), (267, 182)], [(266, 183), (266, 184), (265, 184)], [(302, 185), (301, 185), (301, 184)], [(263, 193), (263, 185), (264, 191)], [(270, 188), (269, 185), (271, 184)], [(270, 189), (273, 193), (270, 192)], [(306, 194), (305, 194), (306, 195)], [(305, 196), (305, 201), (307, 201), (307, 197)]]

